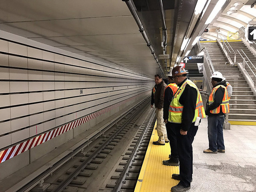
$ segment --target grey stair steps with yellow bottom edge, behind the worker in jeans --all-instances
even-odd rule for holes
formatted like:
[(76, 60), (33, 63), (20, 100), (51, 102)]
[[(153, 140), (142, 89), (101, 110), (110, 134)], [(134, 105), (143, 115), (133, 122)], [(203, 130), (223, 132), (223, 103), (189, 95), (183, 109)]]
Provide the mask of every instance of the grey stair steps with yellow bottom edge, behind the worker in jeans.
[[(206, 50), (208, 51), (215, 71), (221, 72), (222, 75), (226, 77), (226, 81), (228, 81), (233, 87), (233, 93), (229, 101), (230, 113), (228, 121), (230, 122), (230, 124), (248, 124), (248, 122), (252, 122), (252, 124), (255, 124), (256, 97), (254, 96), (253, 92), (251, 91), (249, 85), (247, 84), (242, 73), (239, 71), (238, 67), (236, 65), (231, 66), (227, 63), (228, 60), (226, 59), (224, 53), (220, 49), (217, 42), (204, 41), (200, 43), (202, 48), (205, 47)], [(240, 46), (240, 43), (236, 43), (237, 42), (234, 42), (237, 48), (233, 48), (234, 50), (240, 50), (243, 48)], [(244, 52), (248, 53), (245, 50)], [(248, 53), (248, 55), (253, 56), (250, 53)], [(240, 62), (241, 59), (241, 57), (237, 57), (237, 62)], [(234, 60), (234, 56), (232, 60)], [(251, 61), (256, 62), (256, 59), (252, 58)]]

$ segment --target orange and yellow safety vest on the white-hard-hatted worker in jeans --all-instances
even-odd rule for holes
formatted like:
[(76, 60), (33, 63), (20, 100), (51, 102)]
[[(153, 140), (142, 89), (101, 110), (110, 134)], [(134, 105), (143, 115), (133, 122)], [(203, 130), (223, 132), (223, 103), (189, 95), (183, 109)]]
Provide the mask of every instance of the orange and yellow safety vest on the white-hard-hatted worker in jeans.
[(222, 98), (222, 103), (221, 103), (217, 108), (215, 108), (215, 109), (213, 109), (213, 110), (210, 110), (210, 112), (211, 112), (212, 114), (218, 114), (218, 113), (220, 113), (220, 106), (222, 106), (222, 112), (223, 112), (223, 113), (229, 113), (228, 92), (227, 92), (227, 90), (226, 90), (226, 87), (223, 86), (223, 85), (218, 85), (218, 86), (216, 86), (216, 87), (214, 87), (214, 88), (212, 89), (212, 92), (211, 92), (211, 94), (210, 94), (210, 96), (209, 96), (209, 100), (208, 100), (208, 101), (209, 101), (209, 105), (214, 102), (214, 94), (215, 94), (216, 90), (217, 90), (219, 87), (224, 88), (224, 90), (225, 90), (224, 96), (223, 96), (223, 98)]

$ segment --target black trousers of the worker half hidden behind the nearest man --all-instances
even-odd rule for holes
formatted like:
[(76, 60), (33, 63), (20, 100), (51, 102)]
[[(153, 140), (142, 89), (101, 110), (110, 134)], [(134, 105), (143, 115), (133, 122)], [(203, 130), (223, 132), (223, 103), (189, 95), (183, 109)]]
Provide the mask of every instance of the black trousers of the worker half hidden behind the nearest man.
[(167, 138), (170, 141), (171, 156), (173, 158), (178, 158), (176, 130), (174, 127), (172, 127), (172, 123), (170, 122), (167, 122), (165, 125), (166, 125)]

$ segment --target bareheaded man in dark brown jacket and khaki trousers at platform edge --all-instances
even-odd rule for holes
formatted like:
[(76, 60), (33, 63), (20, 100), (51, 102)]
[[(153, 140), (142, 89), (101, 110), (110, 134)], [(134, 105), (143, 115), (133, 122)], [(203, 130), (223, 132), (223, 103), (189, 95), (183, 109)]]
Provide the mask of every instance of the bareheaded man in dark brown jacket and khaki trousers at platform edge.
[(156, 92), (154, 94), (154, 104), (156, 107), (156, 131), (158, 134), (158, 140), (154, 141), (154, 145), (165, 145), (165, 142), (169, 142), (167, 138), (166, 128), (163, 119), (163, 106), (164, 106), (164, 90), (166, 84), (162, 80), (160, 74), (155, 75)]

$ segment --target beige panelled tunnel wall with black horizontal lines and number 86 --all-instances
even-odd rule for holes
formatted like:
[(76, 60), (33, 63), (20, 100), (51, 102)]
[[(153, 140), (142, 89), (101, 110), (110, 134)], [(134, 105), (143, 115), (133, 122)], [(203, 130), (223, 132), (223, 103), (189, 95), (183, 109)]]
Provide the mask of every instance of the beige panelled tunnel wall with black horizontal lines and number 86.
[(0, 36), (0, 168), (8, 174), (151, 94), (154, 77), (13, 36)]

